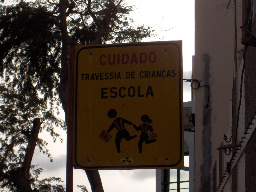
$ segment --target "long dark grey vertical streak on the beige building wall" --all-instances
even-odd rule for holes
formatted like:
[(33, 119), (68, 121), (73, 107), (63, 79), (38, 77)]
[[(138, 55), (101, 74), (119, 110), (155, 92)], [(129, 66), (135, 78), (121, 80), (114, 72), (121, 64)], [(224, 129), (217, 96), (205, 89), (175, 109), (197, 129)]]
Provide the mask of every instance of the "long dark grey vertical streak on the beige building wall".
[[(211, 86), (210, 86), (210, 61), (211, 56), (207, 53), (204, 53), (201, 56), (201, 60), (204, 63), (204, 74), (203, 74), (203, 83), (204, 85), (208, 85), (210, 92), (211, 92)], [(211, 136), (212, 136), (212, 127), (211, 127), (211, 113), (212, 113), (212, 107), (211, 107), (211, 94), (209, 97), (209, 107), (205, 107), (208, 102), (208, 88), (204, 86), (204, 110), (203, 110), (203, 164), (201, 165), (201, 189), (200, 191), (206, 192), (211, 191), (211, 164), (212, 164), (212, 142), (211, 142)]]

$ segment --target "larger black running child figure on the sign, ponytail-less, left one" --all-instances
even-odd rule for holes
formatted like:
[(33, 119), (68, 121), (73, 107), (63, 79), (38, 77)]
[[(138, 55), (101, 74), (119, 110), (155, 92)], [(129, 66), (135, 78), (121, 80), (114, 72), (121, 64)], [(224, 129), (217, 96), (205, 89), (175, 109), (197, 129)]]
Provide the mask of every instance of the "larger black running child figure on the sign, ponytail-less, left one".
[[(110, 109), (108, 111), (108, 117), (113, 119), (116, 117), (116, 110), (115, 109)], [(118, 153), (120, 153), (120, 144), (121, 144), (121, 140), (123, 138), (125, 138), (126, 141), (130, 141), (131, 139), (137, 137), (137, 135), (134, 136), (130, 136), (130, 133), (124, 128), (124, 123), (128, 124), (128, 125), (132, 125), (132, 122), (127, 121), (124, 118), (121, 117), (117, 117), (114, 122), (110, 125), (110, 127), (108, 128), (108, 133), (110, 131), (112, 131), (112, 129), (116, 128), (117, 129), (117, 133), (116, 133), (116, 150)]]

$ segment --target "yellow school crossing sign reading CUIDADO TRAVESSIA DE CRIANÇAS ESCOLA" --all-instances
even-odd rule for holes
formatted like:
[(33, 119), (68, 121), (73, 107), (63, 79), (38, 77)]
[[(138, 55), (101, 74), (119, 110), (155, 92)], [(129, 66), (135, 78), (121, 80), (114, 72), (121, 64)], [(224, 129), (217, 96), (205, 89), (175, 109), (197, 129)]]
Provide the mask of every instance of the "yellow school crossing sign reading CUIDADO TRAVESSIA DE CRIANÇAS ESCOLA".
[(182, 41), (75, 47), (74, 167), (183, 167)]

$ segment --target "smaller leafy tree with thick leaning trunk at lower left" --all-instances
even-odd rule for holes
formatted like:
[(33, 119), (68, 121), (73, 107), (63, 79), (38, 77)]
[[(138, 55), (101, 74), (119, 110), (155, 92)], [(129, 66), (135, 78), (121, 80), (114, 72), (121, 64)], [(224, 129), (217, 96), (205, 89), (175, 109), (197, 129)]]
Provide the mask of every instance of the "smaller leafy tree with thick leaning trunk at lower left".
[[(12, 78), (0, 86), (0, 133), (4, 138), (0, 138), (1, 187), (21, 192), (65, 191), (62, 185), (51, 185), (52, 181), (62, 182), (60, 178), (38, 180), (42, 169), (31, 166), (36, 146), (52, 161), (47, 143), (38, 138), (39, 132), (46, 129), (55, 142), (60, 135), (54, 132), (54, 125), (65, 129), (65, 122), (54, 115), (54, 100), (40, 98), (36, 89), (24, 90), (19, 75), (13, 74)], [(32, 85), (27, 88), (33, 89)]]

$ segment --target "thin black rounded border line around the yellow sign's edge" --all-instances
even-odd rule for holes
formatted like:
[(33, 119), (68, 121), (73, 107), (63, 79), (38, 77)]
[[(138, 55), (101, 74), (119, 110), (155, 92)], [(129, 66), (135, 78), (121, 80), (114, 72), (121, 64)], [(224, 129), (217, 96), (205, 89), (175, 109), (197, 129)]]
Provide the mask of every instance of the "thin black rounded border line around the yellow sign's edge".
[[(179, 103), (180, 103), (180, 159), (177, 163), (175, 164), (172, 164), (172, 165), (146, 165), (146, 166), (81, 166), (78, 164), (77, 160), (76, 160), (76, 143), (77, 143), (77, 138), (76, 138), (76, 135), (77, 135), (77, 82), (78, 82), (78, 55), (79, 53), (84, 50), (84, 49), (92, 49), (92, 48), (109, 48), (109, 47), (133, 47), (133, 46), (145, 46), (145, 45), (174, 45), (178, 48), (178, 51), (179, 51), (179, 94), (180, 94), (180, 98), (179, 98)], [(97, 170), (100, 170), (100, 169), (109, 169), (109, 170), (118, 170), (118, 169), (131, 169), (131, 168), (155, 168), (155, 167), (159, 167), (159, 168), (165, 168), (165, 167), (174, 167), (174, 166), (177, 166), (181, 160), (182, 160), (182, 157), (183, 157), (183, 153), (182, 153), (182, 98), (183, 98), (183, 95), (182, 94), (182, 85), (181, 85), (181, 82), (183, 81), (182, 79), (182, 74), (181, 74), (182, 71), (182, 53), (181, 53), (181, 50), (180, 50), (180, 47), (179, 45), (177, 45), (176, 43), (174, 43), (173, 41), (172, 42), (141, 42), (141, 43), (127, 43), (127, 44), (105, 44), (105, 45), (97, 45), (97, 46), (86, 46), (86, 47), (83, 47), (81, 49), (78, 50), (77, 54), (76, 54), (76, 76), (75, 76), (75, 82), (76, 82), (76, 87), (75, 87), (75, 157), (74, 157), (74, 160), (75, 160), (75, 163), (77, 166), (81, 167), (82, 169), (97, 169)]]

